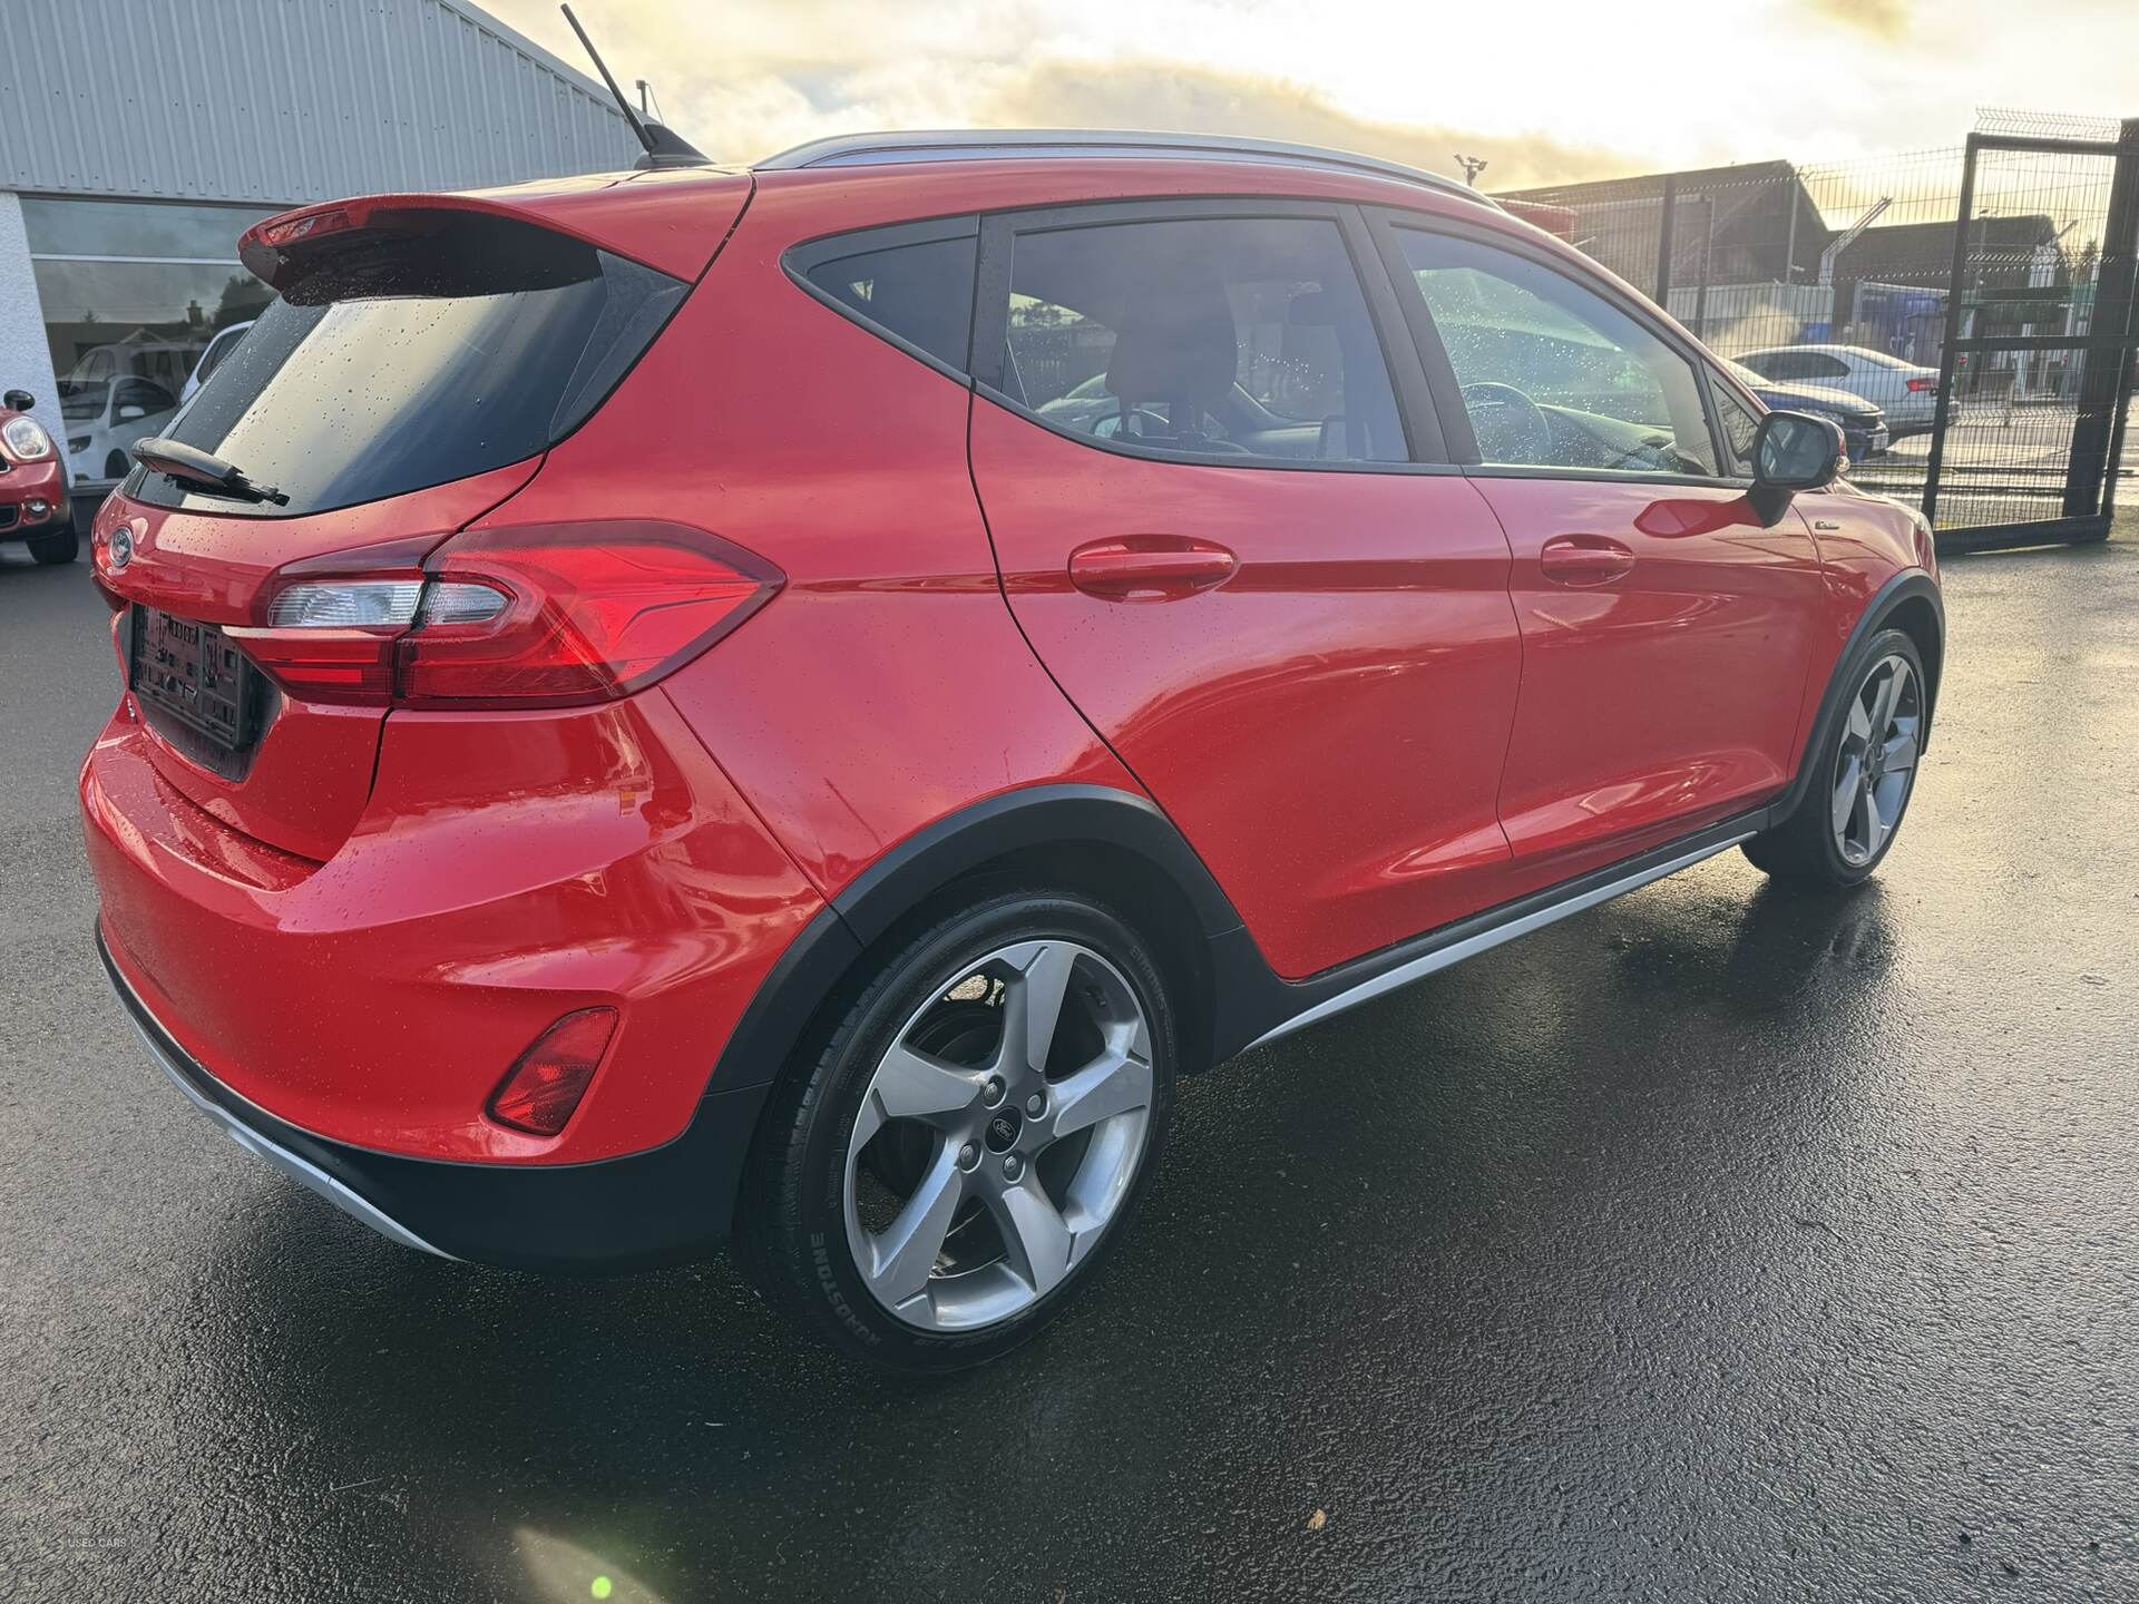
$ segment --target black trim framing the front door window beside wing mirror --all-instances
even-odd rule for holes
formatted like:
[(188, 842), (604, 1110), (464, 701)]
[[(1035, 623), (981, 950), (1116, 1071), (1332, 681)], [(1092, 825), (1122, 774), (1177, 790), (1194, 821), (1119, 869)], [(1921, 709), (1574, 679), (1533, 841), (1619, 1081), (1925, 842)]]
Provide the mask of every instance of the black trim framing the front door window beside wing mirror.
[[(1418, 346), (1418, 359), (1427, 374), (1427, 385), (1433, 391), (1440, 415), (1448, 419), (1446, 438), (1448, 456), (1452, 462), (1461, 464), (1461, 471), (1476, 479), (1587, 479), (1596, 483), (1660, 483), (1660, 485), (1713, 485), (1718, 490), (1743, 490), (1750, 479), (1728, 477), (1722, 466), (1730, 460), (1726, 453), (1726, 441), (1722, 438), (1722, 419), (1713, 398), (1709, 396), (1709, 368), (1715, 361), (1711, 353), (1698, 346), (1690, 336), (1660, 323), (1653, 308), (1634, 295), (1628, 295), (1617, 284), (1613, 284), (1604, 274), (1579, 272), (1557, 252), (1544, 250), (1521, 235), (1506, 233), (1493, 227), (1472, 225), (1467, 218), (1448, 218), (1437, 212), (1410, 212), (1405, 207), (1373, 205), (1363, 207), (1369, 231), (1373, 233), (1375, 248), (1382, 257), (1382, 267), (1395, 284), (1395, 293), (1403, 308), (1403, 319), (1412, 331), (1412, 340)], [(1660, 473), (1653, 468), (1555, 468), (1542, 464), (1489, 464), (1478, 451), (1478, 436), (1472, 430), (1469, 413), (1463, 406), (1463, 387), (1457, 383), (1455, 364), (1448, 359), (1448, 349), (1442, 344), (1440, 327), (1433, 323), (1433, 312), (1427, 308), (1427, 297), (1418, 289), (1418, 278), (1412, 274), (1410, 263), (1403, 257), (1403, 246), (1397, 240), (1399, 229), (1410, 229), (1414, 233), (1435, 233), (1450, 240), (1463, 240), (1465, 244), (1484, 246), (1489, 250), (1504, 250), (1510, 257), (1529, 261), (1546, 272), (1559, 274), (1572, 284), (1589, 291), (1602, 299), (1613, 310), (1632, 319), (1647, 334), (1660, 340), (1668, 351), (1681, 357), (1694, 370), (1694, 394), (1701, 398), (1701, 413), (1709, 430), (1709, 451), (1715, 458), (1718, 473)]]

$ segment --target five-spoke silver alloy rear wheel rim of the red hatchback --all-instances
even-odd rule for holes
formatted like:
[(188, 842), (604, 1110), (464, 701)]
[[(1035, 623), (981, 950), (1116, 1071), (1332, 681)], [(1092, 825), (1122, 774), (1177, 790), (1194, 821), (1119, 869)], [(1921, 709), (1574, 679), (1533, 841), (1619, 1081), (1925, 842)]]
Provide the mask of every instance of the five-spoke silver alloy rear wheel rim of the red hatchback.
[(1129, 1196), (1151, 1099), (1144, 1005), (1104, 956), (1044, 939), (967, 965), (877, 1061), (847, 1144), (871, 1296), (935, 1332), (1044, 1298)]

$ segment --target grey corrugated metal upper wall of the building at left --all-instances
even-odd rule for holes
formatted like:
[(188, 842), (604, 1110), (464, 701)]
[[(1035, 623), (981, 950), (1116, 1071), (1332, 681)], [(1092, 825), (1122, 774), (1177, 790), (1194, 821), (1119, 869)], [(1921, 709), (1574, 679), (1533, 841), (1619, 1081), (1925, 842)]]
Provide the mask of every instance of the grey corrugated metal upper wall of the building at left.
[(599, 83), (462, 0), (0, 0), (0, 188), (299, 203), (635, 154)]

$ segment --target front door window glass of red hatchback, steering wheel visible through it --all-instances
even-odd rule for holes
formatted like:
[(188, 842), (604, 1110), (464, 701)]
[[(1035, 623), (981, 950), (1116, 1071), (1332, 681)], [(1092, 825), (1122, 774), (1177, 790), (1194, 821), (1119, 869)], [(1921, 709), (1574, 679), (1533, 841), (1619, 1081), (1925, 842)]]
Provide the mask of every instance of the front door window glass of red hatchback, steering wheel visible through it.
[(1692, 364), (1527, 257), (1397, 229), (1493, 466), (1713, 475)]

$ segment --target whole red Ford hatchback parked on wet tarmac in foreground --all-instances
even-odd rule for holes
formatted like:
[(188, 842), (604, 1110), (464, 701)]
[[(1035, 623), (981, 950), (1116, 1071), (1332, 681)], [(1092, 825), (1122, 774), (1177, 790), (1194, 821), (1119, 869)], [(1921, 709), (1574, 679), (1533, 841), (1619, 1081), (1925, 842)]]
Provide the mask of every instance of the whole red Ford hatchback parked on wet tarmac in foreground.
[(411, 1247), (736, 1238), (945, 1369), (1121, 1238), (1176, 1076), (1733, 845), (1848, 885), (1923, 522), (1448, 182), (832, 141), (252, 229), (96, 520), (111, 980)]

